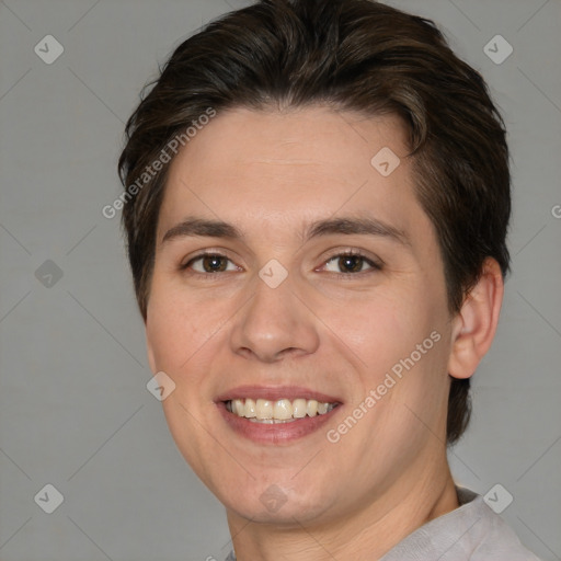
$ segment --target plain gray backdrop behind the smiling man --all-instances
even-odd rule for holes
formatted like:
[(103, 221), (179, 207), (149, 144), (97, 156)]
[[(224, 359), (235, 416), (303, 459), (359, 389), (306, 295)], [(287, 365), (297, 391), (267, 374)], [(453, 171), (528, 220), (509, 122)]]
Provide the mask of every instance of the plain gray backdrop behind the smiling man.
[[(146, 389), (118, 217), (101, 209), (121, 193), (123, 123), (142, 84), (203, 23), (247, 3), (0, 1), (1, 561), (220, 560), (230, 549), (222, 506)], [(510, 129), (514, 273), (450, 462), (482, 494), (501, 483), (523, 542), (561, 559), (561, 3), (388, 3), (436, 20)], [(65, 49), (51, 65), (34, 51), (48, 34)], [(483, 50), (496, 34), (514, 48), (500, 65)], [(36, 277), (47, 260), (59, 279), (51, 264)], [(47, 483), (64, 495), (53, 514), (34, 502)]]

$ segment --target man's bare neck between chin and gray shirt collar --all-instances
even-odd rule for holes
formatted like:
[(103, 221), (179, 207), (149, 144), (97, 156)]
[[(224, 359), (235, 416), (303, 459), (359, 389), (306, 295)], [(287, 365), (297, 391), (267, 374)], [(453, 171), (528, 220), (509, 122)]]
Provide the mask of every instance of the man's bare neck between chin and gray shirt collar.
[(377, 560), (423, 524), (457, 508), (448, 463), (430, 476), (400, 480), (365, 508), (328, 523), (251, 523), (228, 510), (237, 561)]

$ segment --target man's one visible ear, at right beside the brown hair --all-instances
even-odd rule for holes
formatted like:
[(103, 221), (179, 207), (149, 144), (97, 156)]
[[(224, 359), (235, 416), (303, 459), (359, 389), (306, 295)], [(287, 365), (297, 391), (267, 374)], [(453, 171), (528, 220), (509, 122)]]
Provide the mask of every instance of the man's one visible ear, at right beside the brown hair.
[(448, 374), (454, 378), (469, 378), (495, 336), (503, 302), (504, 283), (496, 260), (488, 257), (481, 278), (466, 297), (453, 320), (451, 351)]

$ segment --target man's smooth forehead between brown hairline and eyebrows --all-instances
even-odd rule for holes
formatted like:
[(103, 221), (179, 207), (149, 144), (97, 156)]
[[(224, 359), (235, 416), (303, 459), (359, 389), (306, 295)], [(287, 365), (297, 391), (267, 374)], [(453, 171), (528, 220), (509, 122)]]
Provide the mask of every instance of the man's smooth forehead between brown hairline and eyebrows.
[[(159, 240), (193, 214), (261, 234), (266, 228), (286, 236), (337, 213), (373, 213), (409, 230), (426, 217), (407, 153), (397, 117), (319, 106), (218, 113), (171, 163)], [(389, 175), (380, 173), (387, 170), (379, 167), (383, 160), (391, 168), (398, 163)]]

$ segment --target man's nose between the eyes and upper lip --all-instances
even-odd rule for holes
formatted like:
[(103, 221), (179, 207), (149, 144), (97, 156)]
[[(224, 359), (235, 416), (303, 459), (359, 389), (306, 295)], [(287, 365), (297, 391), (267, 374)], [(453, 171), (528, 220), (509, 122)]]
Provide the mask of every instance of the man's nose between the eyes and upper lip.
[(237, 314), (231, 348), (245, 358), (274, 363), (285, 356), (304, 356), (319, 346), (314, 316), (295, 294), (290, 275), (276, 288), (256, 279), (253, 297)]

